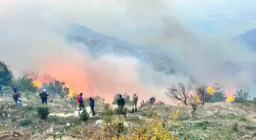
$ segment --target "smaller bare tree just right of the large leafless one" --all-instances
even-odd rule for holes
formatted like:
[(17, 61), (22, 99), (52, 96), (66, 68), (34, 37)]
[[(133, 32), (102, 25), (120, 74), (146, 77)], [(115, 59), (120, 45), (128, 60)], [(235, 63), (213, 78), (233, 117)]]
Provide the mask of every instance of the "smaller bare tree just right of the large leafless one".
[(212, 97), (212, 95), (210, 95), (207, 92), (207, 86), (205, 86), (205, 85), (197, 87), (196, 93), (197, 93), (198, 97), (200, 98), (201, 104), (205, 104), (206, 102), (209, 102), (210, 98)]

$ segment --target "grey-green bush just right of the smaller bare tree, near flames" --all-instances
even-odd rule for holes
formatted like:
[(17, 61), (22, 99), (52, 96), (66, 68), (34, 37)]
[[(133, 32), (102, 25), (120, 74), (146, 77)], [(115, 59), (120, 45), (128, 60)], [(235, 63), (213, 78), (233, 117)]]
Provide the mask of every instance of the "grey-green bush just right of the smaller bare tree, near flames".
[(219, 83), (215, 83), (213, 85), (213, 90), (215, 91), (210, 99), (210, 102), (216, 103), (221, 101), (226, 101), (226, 95), (222, 90), (224, 86), (221, 86)]

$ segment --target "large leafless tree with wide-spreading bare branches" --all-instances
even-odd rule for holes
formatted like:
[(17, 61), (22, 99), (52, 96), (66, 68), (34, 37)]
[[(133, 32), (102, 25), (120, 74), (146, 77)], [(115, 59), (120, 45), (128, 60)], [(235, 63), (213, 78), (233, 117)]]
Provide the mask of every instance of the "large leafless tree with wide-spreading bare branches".
[(181, 101), (182, 103), (187, 105), (187, 98), (189, 98), (189, 92), (191, 89), (192, 86), (189, 83), (185, 85), (184, 83), (180, 82), (178, 86), (172, 86), (171, 88), (168, 88), (168, 92), (166, 92), (165, 95), (168, 98)]

